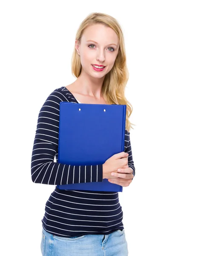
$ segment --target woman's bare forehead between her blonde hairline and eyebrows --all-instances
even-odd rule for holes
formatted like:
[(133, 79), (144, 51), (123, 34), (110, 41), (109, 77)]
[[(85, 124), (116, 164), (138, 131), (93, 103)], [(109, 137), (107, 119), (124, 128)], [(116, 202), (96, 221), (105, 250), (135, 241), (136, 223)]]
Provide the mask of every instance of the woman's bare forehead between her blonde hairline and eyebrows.
[(118, 44), (119, 38), (115, 31), (103, 24), (95, 24), (88, 26), (82, 35), (82, 41), (93, 40), (98, 44)]

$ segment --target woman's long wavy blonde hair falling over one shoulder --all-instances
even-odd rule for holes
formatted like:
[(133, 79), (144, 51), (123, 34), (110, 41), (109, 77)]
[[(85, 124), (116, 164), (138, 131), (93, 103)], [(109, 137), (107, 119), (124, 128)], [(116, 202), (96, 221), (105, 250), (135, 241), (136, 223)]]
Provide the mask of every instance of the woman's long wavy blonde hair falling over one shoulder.
[[(75, 40), (77, 40), (80, 43), (81, 37), (84, 33), (84, 29), (86, 29), (87, 26), (98, 23), (101, 23), (104, 26), (109, 26), (110, 28), (112, 28), (118, 35), (120, 41), (118, 55), (115, 59), (115, 63), (110, 72), (107, 73), (104, 78), (102, 85), (102, 94), (105, 101), (108, 104), (127, 105), (126, 130), (130, 132), (130, 128), (133, 128), (132, 125), (134, 125), (129, 120), (130, 115), (133, 111), (133, 107), (130, 104), (130, 102), (127, 101), (124, 95), (124, 90), (129, 79), (129, 72), (127, 69), (124, 36), (118, 21), (110, 15), (100, 12), (93, 12), (82, 21), (76, 33)], [(81, 60), (75, 48), (72, 53), (71, 66), (72, 75), (78, 78), (78, 76), (80, 76), (81, 74)]]

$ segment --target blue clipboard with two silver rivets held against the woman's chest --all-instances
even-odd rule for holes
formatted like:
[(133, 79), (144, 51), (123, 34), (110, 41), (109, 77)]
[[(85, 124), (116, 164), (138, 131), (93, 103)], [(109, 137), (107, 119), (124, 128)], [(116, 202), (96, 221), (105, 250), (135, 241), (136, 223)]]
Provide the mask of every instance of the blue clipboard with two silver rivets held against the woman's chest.
[[(104, 164), (124, 151), (126, 105), (60, 103), (58, 163), (72, 166)], [(57, 185), (58, 189), (122, 192), (102, 182)]]

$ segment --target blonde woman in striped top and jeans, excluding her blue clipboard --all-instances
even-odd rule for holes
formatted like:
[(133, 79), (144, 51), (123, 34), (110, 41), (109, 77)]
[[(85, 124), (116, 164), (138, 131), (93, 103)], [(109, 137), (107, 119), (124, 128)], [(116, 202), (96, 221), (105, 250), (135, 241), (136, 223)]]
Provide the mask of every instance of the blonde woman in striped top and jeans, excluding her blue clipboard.
[[(110, 183), (129, 186), (135, 175), (129, 132), (133, 108), (124, 96), (128, 73), (124, 38), (117, 20), (102, 13), (85, 18), (76, 35), (72, 73), (76, 81), (55, 89), (40, 110), (32, 151), (32, 181), (67, 184), (76, 180), (73, 174), (77, 178), (83, 173), (86, 178), (78, 179), (80, 182), (90, 182), (92, 175), (92, 181), (107, 178)], [(54, 157), (58, 161), (62, 101), (127, 105), (125, 152), (96, 166), (54, 162)], [(42, 219), (42, 255), (126, 256), (122, 218), (118, 192), (70, 191), (56, 186), (46, 202)]]

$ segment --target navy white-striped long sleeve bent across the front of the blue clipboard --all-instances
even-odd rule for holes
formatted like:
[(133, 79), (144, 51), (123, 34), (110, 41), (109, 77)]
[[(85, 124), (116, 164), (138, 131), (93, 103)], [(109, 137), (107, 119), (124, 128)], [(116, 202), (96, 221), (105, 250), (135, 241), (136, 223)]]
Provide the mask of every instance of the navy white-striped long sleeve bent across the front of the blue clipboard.
[(58, 154), (59, 108), (62, 101), (68, 100), (58, 88), (48, 96), (40, 109), (32, 149), (32, 181), (50, 185), (101, 182), (102, 164), (72, 166), (54, 162), (55, 154)]

